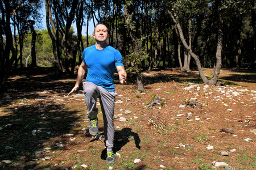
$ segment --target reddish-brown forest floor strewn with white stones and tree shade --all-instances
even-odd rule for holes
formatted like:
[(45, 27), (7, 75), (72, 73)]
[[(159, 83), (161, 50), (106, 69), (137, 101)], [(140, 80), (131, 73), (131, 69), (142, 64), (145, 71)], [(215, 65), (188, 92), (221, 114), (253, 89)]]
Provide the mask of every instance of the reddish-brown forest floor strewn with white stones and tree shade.
[(76, 75), (16, 71), (0, 94), (0, 169), (256, 169), (255, 70), (222, 69), (224, 86), (177, 69), (143, 79), (142, 92), (134, 75), (125, 85), (115, 75), (117, 156), (107, 164), (104, 135), (88, 134), (82, 87), (67, 96)]

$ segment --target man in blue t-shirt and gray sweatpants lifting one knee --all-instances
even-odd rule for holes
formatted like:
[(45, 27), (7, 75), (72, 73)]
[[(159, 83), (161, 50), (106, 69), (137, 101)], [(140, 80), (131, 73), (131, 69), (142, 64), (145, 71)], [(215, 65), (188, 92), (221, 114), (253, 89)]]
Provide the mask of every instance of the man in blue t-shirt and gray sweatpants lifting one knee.
[(117, 93), (114, 88), (114, 71), (117, 69), (121, 84), (126, 83), (126, 72), (123, 66), (122, 56), (118, 50), (107, 44), (109, 38), (108, 28), (104, 24), (98, 24), (94, 29), (96, 44), (90, 46), (82, 53), (82, 63), (77, 73), (75, 87), (69, 92), (79, 89), (79, 84), (88, 69), (84, 88), (84, 100), (88, 108), (87, 118), (90, 120), (89, 133), (98, 134), (98, 109), (97, 98), (100, 99), (104, 120), (105, 145), (107, 150), (107, 163), (114, 163), (114, 104)]

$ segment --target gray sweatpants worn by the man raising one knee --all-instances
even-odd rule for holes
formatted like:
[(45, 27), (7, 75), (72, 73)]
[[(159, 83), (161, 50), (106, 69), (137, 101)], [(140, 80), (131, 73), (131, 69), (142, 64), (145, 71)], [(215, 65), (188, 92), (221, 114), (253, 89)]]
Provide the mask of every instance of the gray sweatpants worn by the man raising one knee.
[(98, 108), (96, 108), (97, 98), (100, 99), (101, 111), (104, 121), (104, 135), (107, 151), (112, 151), (114, 146), (114, 105), (116, 92), (105, 90), (92, 82), (82, 83), (84, 88), (84, 100), (88, 108), (87, 118), (92, 120), (97, 117)]

